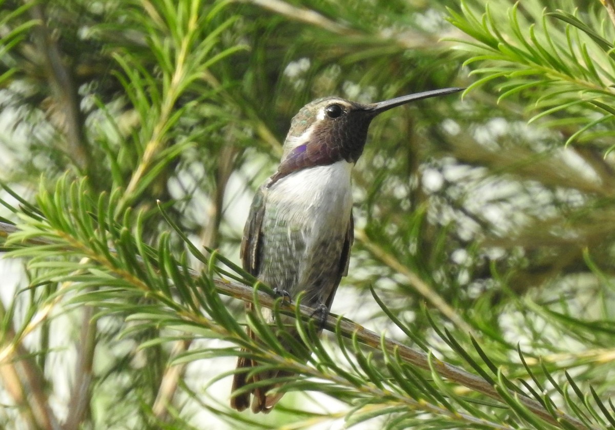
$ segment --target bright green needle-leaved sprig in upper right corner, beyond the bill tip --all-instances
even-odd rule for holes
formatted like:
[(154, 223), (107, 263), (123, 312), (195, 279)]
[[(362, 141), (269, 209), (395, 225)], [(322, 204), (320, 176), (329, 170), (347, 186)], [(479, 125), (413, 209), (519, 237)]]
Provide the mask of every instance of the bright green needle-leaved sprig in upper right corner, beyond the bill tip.
[(509, 8), (487, 4), (478, 16), (462, 1), (461, 14), (450, 9), (450, 22), (472, 38), (453, 39), (472, 55), (464, 65), (480, 64), (471, 74), (482, 78), (467, 91), (496, 80), (498, 102), (516, 96), (533, 102), (527, 106), (533, 112), (528, 122), (574, 127), (566, 144), (591, 142), (611, 151), (615, 57), (609, 40), (615, 32), (610, 23), (600, 23), (603, 8), (574, 12), (543, 10), (534, 2)]

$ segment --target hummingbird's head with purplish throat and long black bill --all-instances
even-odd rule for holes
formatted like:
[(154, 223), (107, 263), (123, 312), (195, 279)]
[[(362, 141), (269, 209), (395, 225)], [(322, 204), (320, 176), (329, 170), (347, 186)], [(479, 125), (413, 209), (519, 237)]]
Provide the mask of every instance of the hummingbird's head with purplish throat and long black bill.
[(355, 163), (363, 153), (371, 120), (395, 106), (462, 88), (446, 88), (363, 104), (323, 97), (303, 106), (293, 117), (284, 141), (284, 154), (272, 182), (297, 170), (346, 160)]

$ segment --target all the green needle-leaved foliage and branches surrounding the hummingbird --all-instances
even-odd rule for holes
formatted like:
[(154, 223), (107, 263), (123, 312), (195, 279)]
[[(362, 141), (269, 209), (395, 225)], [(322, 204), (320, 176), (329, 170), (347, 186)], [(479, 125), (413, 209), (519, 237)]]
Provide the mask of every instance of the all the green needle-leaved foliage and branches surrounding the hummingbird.
[[(615, 426), (615, 31), (574, 6), (2, 2), (0, 426)], [(290, 117), (453, 85), (373, 124), (317, 336), (236, 263)], [(293, 373), (271, 415), (240, 355)]]

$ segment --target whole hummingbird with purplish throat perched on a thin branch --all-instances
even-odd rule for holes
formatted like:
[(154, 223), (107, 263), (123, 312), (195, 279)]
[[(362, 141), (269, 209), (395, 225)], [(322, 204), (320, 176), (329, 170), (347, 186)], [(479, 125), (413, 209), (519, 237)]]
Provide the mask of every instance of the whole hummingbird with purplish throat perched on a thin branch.
[[(303, 106), (292, 119), (276, 173), (256, 191), (250, 206), (240, 248), (244, 269), (290, 300), (303, 292), (301, 303), (325, 321), (339, 282), (348, 273), (354, 240), (351, 172), (363, 153), (371, 120), (395, 106), (461, 90), (431, 90), (370, 104), (324, 97)], [(246, 308), (252, 309), (252, 303)], [(271, 309), (263, 309), (263, 317), (274, 323)], [(282, 318), (301, 342), (292, 317)], [(247, 332), (256, 338), (249, 327)], [(279, 340), (292, 350), (282, 337)], [(260, 382), (292, 373), (250, 373), (258, 365), (245, 356), (237, 359), (231, 407), (242, 411), (252, 397), (252, 412), (267, 413), (284, 394), (275, 390), (282, 383)], [(236, 393), (246, 384), (254, 388)]]

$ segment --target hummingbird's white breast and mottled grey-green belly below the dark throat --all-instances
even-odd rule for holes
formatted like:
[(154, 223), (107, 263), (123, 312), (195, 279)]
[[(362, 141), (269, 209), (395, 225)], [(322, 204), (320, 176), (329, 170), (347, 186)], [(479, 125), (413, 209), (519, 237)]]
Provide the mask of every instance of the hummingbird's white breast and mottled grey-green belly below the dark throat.
[(339, 283), (352, 210), (351, 169), (339, 161), (292, 173), (268, 190), (260, 279), (303, 304), (325, 303)]

